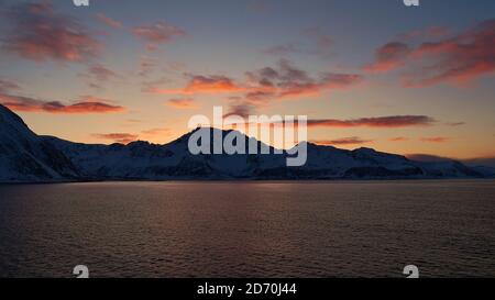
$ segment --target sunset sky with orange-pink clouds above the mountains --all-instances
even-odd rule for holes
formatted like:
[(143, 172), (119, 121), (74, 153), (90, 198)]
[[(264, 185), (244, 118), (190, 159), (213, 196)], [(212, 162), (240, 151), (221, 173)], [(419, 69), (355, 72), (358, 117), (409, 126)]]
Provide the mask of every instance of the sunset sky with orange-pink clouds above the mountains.
[(342, 148), (495, 156), (495, 1), (0, 0), (0, 103), (38, 134), (169, 142), (307, 114)]

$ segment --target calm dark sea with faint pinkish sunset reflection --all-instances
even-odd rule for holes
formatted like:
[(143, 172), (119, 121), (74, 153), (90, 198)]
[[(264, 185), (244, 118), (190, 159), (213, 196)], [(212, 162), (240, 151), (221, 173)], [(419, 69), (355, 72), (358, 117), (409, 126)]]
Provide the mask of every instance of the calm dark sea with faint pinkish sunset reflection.
[(0, 186), (0, 277), (495, 277), (495, 181)]

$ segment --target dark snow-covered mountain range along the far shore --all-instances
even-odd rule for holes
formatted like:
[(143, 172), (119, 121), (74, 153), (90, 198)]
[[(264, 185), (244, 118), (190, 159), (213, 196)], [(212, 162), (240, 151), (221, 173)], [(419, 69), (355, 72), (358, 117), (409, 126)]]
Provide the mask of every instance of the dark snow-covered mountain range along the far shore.
[[(218, 131), (215, 129), (200, 129)], [(195, 132), (195, 131), (194, 131)], [(337, 179), (475, 178), (492, 176), (454, 160), (415, 162), (371, 148), (355, 151), (307, 144), (301, 167), (286, 167), (287, 153), (270, 155), (193, 155), (194, 132), (165, 145), (90, 145), (33, 133), (20, 116), (0, 104), (0, 182), (168, 179)], [(220, 132), (223, 136), (229, 131)], [(211, 136), (213, 136), (211, 134)]]

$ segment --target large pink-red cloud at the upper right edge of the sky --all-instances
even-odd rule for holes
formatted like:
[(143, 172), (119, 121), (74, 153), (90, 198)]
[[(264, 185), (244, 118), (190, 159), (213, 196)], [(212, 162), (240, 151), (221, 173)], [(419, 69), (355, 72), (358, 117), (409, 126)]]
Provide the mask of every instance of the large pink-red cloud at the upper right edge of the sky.
[[(376, 51), (374, 63), (364, 67), (372, 73), (405, 68), (406, 87), (428, 87), (442, 82), (469, 84), (495, 73), (495, 19), (482, 22), (453, 37), (437, 31), (435, 42), (418, 46), (391, 42)], [(422, 36), (425, 38), (425, 35)], [(428, 36), (431, 38), (430, 36)]]

